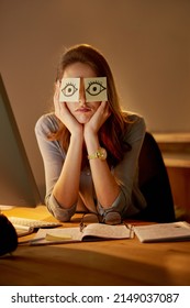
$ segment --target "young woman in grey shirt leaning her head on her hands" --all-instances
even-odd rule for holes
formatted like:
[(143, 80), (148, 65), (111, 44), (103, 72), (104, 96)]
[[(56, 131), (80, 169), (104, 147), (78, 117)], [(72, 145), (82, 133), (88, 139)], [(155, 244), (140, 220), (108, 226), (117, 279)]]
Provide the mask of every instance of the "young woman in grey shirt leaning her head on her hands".
[[(107, 77), (107, 101), (87, 101), (83, 80), (92, 77)], [(60, 101), (64, 78), (80, 79), (77, 101)], [(121, 110), (99, 51), (85, 44), (67, 50), (57, 70), (54, 107), (35, 127), (52, 215), (69, 221), (76, 211), (94, 212), (110, 224), (137, 215), (146, 207), (137, 182), (145, 122)]]

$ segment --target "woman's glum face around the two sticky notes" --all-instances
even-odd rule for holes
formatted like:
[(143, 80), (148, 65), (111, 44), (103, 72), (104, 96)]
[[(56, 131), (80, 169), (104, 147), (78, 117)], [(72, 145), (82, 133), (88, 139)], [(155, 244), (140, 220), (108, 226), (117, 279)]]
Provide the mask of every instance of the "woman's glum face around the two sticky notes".
[(83, 78), (97, 77), (94, 70), (87, 64), (74, 63), (66, 67), (63, 78), (80, 78), (79, 101), (66, 102), (70, 113), (81, 124), (87, 123), (100, 106), (100, 101), (87, 102)]

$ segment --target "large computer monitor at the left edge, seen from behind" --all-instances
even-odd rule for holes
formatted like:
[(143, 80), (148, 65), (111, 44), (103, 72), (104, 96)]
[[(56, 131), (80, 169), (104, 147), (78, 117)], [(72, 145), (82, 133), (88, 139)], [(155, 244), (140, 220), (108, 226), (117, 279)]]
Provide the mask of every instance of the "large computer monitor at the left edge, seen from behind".
[(0, 75), (0, 209), (42, 204)]

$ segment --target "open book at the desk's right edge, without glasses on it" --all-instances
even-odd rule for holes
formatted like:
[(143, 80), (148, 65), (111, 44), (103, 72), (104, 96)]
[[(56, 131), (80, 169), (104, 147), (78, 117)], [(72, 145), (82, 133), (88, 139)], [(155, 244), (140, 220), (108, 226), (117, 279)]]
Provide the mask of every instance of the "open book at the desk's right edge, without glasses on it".
[(134, 227), (142, 243), (190, 240), (190, 224), (186, 221)]

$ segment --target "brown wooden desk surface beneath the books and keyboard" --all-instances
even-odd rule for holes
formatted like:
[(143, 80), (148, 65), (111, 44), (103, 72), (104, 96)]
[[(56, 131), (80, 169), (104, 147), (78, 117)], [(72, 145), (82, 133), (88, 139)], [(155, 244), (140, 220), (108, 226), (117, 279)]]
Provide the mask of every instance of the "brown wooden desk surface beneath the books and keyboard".
[[(44, 206), (9, 216), (55, 221)], [(80, 215), (64, 227), (78, 226)], [(27, 239), (20, 238), (20, 241)], [(190, 285), (190, 242), (143, 244), (136, 238), (46, 246), (19, 245), (0, 258), (0, 285)]]

